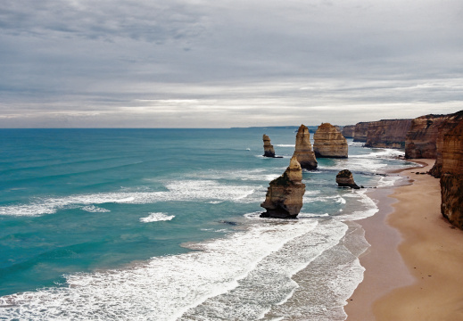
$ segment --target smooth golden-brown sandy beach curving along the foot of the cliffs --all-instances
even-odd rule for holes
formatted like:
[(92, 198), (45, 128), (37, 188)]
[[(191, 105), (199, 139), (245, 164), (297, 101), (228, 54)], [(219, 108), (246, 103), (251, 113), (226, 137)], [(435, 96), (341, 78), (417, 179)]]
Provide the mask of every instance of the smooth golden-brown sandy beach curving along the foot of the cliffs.
[(364, 280), (345, 311), (348, 320), (463, 320), (463, 231), (442, 218), (439, 179), (407, 169), (409, 185), (369, 193), (379, 208), (358, 221), (371, 247)]

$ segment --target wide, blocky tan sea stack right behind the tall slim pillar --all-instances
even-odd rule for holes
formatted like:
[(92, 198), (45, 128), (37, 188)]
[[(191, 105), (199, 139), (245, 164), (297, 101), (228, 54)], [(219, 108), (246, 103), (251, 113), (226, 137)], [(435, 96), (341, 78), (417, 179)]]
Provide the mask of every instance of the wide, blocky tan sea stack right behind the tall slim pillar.
[(347, 141), (335, 126), (329, 123), (321, 124), (313, 139), (316, 157), (347, 158)]

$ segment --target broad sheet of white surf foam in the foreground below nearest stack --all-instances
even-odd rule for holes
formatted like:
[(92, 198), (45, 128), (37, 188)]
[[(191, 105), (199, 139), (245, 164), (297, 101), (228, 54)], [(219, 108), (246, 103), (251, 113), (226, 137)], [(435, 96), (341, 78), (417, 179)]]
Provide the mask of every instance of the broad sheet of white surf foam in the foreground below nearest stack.
[[(288, 274), (306, 263), (305, 259), (289, 259), (295, 252), (291, 250), (292, 246), (285, 247), (285, 243), (311, 234), (317, 226), (316, 221), (310, 220), (277, 224), (262, 220), (260, 225), (247, 231), (194, 246), (202, 251), (154, 258), (132, 269), (66, 276), (68, 287), (0, 298), (0, 305), (11, 305), (2, 309), (2, 316), (20, 320), (176, 320), (209, 298), (235, 291), (244, 279), (251, 277), (251, 273), (252, 279), (256, 276), (266, 284), (275, 284), (280, 274), (273, 278), (269, 268), (279, 269), (280, 260), (289, 264), (282, 269), (283, 279), (287, 279)], [(307, 239), (314, 243), (318, 237)], [(325, 248), (326, 236), (317, 244)], [(285, 251), (282, 251), (284, 247)], [(310, 257), (319, 254), (312, 253), (312, 250), (306, 247)], [(273, 253), (277, 253), (276, 257), (266, 259)], [(290, 285), (289, 290), (292, 290), (294, 282)], [(237, 311), (239, 305), (235, 308)], [(261, 314), (262, 309), (266, 306), (253, 311)], [(194, 310), (188, 313), (194, 313)]]

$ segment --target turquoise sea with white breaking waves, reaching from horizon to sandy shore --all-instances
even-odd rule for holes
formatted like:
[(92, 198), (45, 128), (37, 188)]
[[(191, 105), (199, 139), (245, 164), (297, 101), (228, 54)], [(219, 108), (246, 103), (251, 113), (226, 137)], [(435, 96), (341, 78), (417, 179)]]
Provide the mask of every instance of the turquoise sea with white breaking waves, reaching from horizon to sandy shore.
[(1, 129), (0, 319), (343, 320), (377, 208), (335, 176), (410, 163), (349, 140), (303, 172), (299, 219), (259, 218), (296, 129)]

